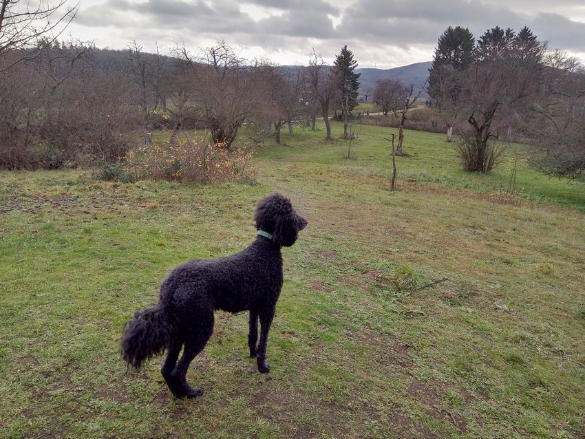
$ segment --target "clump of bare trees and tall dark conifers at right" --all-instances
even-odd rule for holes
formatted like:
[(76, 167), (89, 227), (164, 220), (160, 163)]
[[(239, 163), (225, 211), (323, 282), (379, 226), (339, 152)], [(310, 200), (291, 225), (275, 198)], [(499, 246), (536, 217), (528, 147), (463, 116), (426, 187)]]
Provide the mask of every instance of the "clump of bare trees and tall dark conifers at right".
[(502, 158), (502, 131), (531, 149), (546, 173), (585, 178), (585, 70), (551, 51), (529, 28), (500, 27), (474, 39), (468, 28), (439, 37), (429, 94), (467, 171), (489, 172)]

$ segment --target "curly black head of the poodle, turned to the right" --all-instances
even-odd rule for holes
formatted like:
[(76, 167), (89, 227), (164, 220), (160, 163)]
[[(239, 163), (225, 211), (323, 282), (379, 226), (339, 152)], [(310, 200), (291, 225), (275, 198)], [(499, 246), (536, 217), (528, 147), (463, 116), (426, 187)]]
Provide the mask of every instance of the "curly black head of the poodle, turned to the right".
[(273, 235), (278, 246), (290, 247), (295, 244), (299, 231), (307, 226), (307, 220), (295, 212), (290, 200), (279, 193), (260, 200), (254, 214), (257, 230)]

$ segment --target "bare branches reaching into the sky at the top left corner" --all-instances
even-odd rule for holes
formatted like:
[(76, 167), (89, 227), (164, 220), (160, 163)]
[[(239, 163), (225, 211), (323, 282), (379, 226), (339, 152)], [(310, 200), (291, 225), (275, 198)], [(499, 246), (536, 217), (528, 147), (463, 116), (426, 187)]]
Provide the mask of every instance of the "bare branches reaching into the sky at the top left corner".
[(46, 47), (39, 45), (39, 41), (56, 41), (78, 10), (77, 3), (60, 14), (65, 0), (60, 0), (54, 6), (39, 0), (34, 8), (30, 7), (30, 2), (25, 6), (20, 3), (20, 0), (0, 2), (0, 57), (8, 52), (17, 53), (17, 56), (12, 57), (12, 62), (0, 67), (0, 72), (19, 61), (38, 56)]

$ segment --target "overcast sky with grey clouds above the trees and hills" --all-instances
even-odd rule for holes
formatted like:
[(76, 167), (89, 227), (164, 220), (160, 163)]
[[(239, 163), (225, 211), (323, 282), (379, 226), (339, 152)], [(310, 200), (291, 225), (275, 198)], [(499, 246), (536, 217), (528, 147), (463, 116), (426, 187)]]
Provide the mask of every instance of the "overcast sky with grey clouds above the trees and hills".
[(527, 25), (585, 61), (584, 0), (81, 0), (66, 32), (97, 47), (136, 40), (151, 52), (158, 43), (163, 53), (184, 42), (197, 54), (225, 40), (244, 58), (281, 65), (306, 65), (311, 47), (331, 63), (348, 45), (359, 67), (390, 68), (431, 61), (449, 25), (476, 38)]

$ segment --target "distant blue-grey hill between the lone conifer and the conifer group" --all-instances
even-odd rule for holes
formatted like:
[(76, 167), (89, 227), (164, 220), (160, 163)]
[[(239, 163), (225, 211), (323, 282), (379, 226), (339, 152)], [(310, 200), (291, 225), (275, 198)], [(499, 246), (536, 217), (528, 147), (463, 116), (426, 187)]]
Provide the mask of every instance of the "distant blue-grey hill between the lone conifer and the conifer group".
[[(356, 73), (361, 73), (359, 77), (359, 92), (363, 94), (365, 91), (372, 92), (376, 87), (376, 81), (383, 78), (391, 78), (401, 81), (406, 85), (414, 85), (414, 92), (423, 85), (429, 77), (429, 69), (431, 68), (431, 61), (425, 63), (415, 63), (405, 65), (403, 67), (395, 67), (394, 69), (355, 69)], [(429, 95), (426, 90), (421, 97), (427, 98)]]

